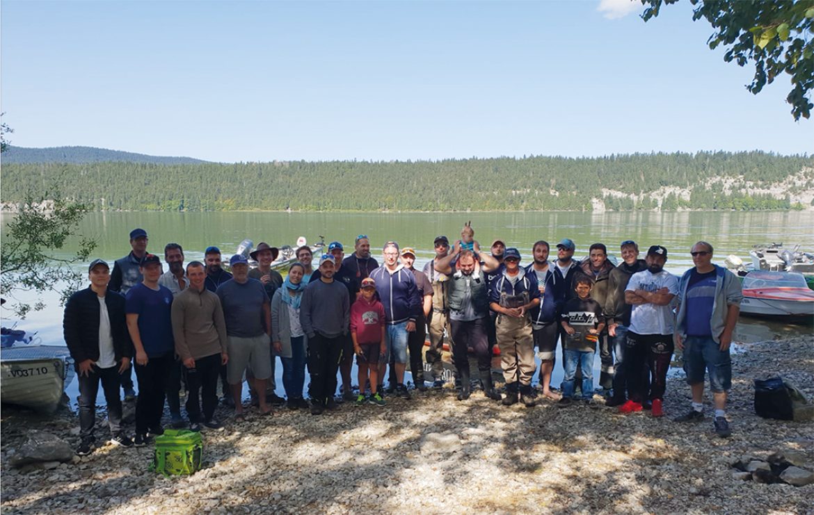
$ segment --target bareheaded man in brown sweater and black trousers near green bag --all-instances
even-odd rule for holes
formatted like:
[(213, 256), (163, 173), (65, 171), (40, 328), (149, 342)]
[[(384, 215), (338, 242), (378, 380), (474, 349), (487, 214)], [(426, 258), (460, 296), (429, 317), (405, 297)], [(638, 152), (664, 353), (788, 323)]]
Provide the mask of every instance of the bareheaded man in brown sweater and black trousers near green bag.
[[(208, 429), (222, 430), (214, 417), (217, 408), (217, 378), (221, 365), (226, 364), (226, 323), (221, 299), (206, 289), (206, 268), (199, 261), (186, 266), (190, 286), (173, 300), (173, 336), (175, 352), (181, 357), (189, 396), (186, 414), (190, 417), (190, 430), (199, 431), (200, 403), (204, 404), (203, 423)], [(199, 399), (199, 394), (203, 395)]]

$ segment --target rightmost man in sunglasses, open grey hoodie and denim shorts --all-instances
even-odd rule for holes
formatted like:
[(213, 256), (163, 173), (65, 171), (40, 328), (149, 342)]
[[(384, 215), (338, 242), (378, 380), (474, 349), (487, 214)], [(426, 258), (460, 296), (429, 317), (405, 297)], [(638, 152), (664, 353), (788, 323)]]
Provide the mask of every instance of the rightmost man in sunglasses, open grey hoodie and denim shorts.
[(676, 347), (684, 350), (684, 371), (693, 392), (693, 408), (675, 420), (703, 420), (704, 371), (707, 369), (715, 403), (716, 434), (726, 438), (731, 434), (725, 411), (732, 385), (729, 344), (741, 312), (743, 293), (735, 274), (712, 264), (709, 243), (696, 243), (690, 255), (695, 267), (690, 268), (679, 283), (675, 339)]

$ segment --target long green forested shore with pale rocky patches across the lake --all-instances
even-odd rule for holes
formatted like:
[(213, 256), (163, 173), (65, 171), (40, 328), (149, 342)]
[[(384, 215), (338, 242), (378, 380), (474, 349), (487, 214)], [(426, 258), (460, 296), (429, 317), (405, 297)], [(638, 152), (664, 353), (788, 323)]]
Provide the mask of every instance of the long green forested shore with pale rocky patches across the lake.
[(54, 187), (96, 209), (133, 211), (789, 209), (811, 203), (810, 195), (804, 205), (792, 199), (814, 190), (814, 158), (755, 151), (168, 165), (4, 159), (4, 203)]

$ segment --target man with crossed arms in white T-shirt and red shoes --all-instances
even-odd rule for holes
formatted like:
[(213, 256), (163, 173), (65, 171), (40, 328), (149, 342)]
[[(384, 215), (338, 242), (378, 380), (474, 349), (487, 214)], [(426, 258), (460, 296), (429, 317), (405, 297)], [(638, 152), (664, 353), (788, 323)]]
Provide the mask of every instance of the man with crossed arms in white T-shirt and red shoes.
[(670, 368), (673, 342), (673, 316), (670, 303), (678, 294), (678, 279), (664, 270), (667, 249), (654, 245), (647, 251), (647, 269), (630, 277), (624, 290), (624, 302), (633, 306), (624, 357), (628, 378), (628, 400), (619, 411), (641, 411), (647, 384), (641, 369), (650, 369), (650, 402), (653, 417), (663, 417), (667, 369)]

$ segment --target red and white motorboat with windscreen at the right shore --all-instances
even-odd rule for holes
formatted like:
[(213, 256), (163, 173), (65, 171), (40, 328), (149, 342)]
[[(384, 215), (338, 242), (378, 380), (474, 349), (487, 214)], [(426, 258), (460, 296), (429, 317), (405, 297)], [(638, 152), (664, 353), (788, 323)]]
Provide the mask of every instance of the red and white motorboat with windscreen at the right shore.
[(814, 291), (801, 273), (755, 270), (743, 277), (741, 312), (814, 317)]

